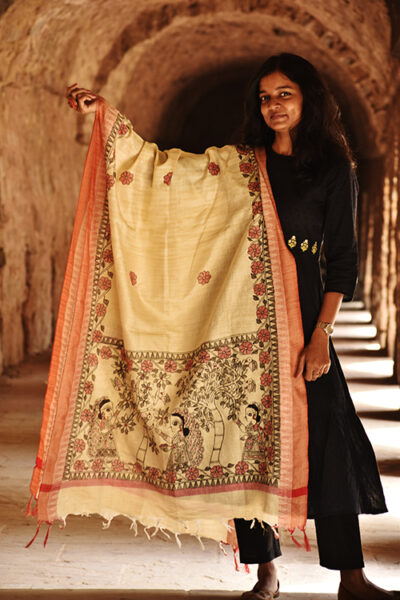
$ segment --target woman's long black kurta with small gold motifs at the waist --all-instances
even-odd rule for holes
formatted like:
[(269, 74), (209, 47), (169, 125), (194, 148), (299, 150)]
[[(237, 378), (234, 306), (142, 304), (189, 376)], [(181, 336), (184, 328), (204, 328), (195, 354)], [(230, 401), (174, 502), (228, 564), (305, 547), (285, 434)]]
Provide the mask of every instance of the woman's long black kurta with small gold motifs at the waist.
[[(267, 171), (283, 235), (296, 260), (305, 344), (318, 320), (324, 289), (351, 300), (357, 280), (357, 181), (337, 161), (319, 181), (299, 189), (291, 156), (267, 152)], [(323, 242), (326, 280), (320, 250)], [(329, 373), (306, 382), (309, 425), (309, 518), (386, 512), (375, 455), (333, 344)]]

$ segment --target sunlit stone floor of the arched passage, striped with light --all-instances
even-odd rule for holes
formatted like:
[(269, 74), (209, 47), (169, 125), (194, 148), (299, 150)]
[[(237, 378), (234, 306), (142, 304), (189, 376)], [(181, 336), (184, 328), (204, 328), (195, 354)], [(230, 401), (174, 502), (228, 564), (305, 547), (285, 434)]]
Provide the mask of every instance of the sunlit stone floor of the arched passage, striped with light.
[[(356, 304), (342, 310), (335, 345), (351, 392), (374, 445), (389, 513), (362, 516), (367, 574), (389, 589), (400, 588), (400, 391), (392, 363), (374, 340), (370, 316)], [(254, 581), (236, 572), (218, 544), (182, 537), (182, 548), (162, 535), (137, 537), (123, 518), (102, 529), (101, 519), (70, 517), (53, 527), (43, 548), (26, 543), (35, 524), (24, 516), (38, 443), (48, 357), (40, 356), (0, 378), (0, 600), (159, 600), (239, 598)], [(43, 540), (45, 532), (40, 533)], [(313, 524), (311, 552), (282, 538), (278, 559), (282, 600), (333, 600), (337, 574), (318, 566)]]

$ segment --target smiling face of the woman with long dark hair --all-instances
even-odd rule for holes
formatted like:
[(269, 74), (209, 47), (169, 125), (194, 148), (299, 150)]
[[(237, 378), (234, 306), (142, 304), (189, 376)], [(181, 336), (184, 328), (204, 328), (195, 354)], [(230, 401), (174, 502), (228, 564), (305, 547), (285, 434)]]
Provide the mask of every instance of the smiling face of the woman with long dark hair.
[(260, 109), (265, 123), (277, 132), (289, 132), (301, 119), (303, 94), (300, 87), (276, 71), (260, 80)]

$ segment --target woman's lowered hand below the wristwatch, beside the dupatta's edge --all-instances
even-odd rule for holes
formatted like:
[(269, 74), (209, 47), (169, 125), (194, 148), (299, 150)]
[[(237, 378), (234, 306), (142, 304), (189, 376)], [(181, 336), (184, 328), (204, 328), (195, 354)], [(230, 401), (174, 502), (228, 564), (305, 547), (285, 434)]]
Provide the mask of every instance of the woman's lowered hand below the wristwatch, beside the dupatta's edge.
[(302, 350), (296, 369), (296, 377), (304, 373), (306, 381), (315, 381), (326, 375), (331, 366), (329, 336), (319, 328), (314, 329), (310, 343)]

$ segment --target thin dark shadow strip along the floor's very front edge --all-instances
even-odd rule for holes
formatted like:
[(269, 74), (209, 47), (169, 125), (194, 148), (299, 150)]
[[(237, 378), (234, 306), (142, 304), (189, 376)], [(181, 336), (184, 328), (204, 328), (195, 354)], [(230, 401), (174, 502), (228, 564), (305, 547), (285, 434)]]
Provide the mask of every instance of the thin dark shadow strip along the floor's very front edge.
[[(178, 590), (0, 590), (1, 600), (239, 600), (242, 592)], [(336, 600), (336, 594), (285, 594), (280, 600)]]

